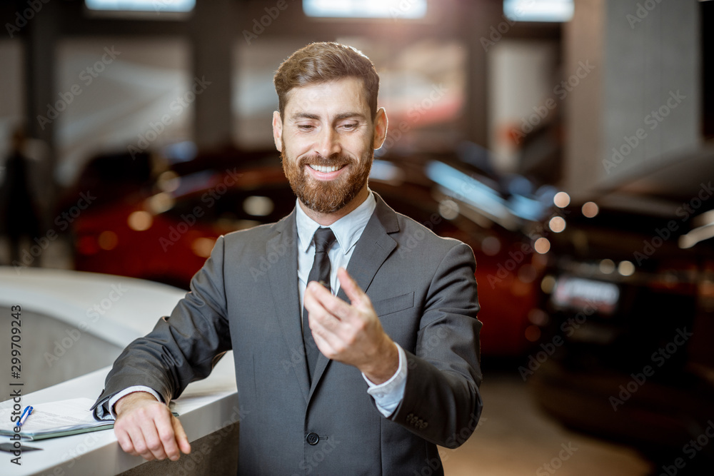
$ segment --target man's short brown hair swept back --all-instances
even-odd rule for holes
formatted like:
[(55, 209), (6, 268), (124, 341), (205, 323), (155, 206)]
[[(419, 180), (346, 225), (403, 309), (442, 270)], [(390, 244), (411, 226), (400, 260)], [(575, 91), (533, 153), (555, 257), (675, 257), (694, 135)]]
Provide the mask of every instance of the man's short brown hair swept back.
[(287, 96), (292, 88), (348, 77), (362, 79), (367, 103), (374, 119), (377, 115), (379, 92), (379, 76), (374, 64), (358, 49), (333, 42), (308, 44), (291, 54), (280, 65), (273, 77), (280, 115), (283, 116)]

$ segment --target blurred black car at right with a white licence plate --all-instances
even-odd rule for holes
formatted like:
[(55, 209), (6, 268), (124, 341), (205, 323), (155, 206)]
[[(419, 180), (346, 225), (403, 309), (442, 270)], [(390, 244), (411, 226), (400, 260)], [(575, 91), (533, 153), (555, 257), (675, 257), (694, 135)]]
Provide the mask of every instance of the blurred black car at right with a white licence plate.
[(708, 148), (558, 208), (519, 368), (550, 415), (676, 474), (714, 463), (713, 178)]

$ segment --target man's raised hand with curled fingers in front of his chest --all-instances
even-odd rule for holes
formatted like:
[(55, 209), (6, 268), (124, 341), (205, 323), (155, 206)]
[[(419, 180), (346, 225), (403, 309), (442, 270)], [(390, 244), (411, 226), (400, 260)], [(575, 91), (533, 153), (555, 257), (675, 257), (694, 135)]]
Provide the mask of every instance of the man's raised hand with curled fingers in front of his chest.
[(384, 383), (399, 368), (397, 347), (384, 332), (368, 295), (344, 268), (337, 276), (349, 304), (314, 281), (305, 290), (315, 343), (327, 358), (355, 366), (372, 383)]

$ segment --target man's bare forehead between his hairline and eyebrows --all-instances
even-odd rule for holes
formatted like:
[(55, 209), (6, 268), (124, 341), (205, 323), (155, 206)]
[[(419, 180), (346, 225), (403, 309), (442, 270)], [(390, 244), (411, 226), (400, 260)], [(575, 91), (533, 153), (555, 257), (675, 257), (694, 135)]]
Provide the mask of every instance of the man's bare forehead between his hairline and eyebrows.
[(348, 77), (335, 81), (310, 83), (292, 88), (286, 94), (286, 114), (310, 112), (317, 108), (334, 110), (369, 109), (364, 82)]

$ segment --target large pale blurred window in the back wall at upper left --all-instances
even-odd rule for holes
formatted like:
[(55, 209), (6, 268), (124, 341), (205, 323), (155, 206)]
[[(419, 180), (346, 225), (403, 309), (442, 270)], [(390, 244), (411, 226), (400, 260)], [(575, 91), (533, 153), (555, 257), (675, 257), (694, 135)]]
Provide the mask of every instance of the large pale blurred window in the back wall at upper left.
[(68, 39), (57, 49), (56, 101), (42, 121), (56, 121), (57, 180), (68, 185), (99, 153), (156, 151), (191, 140), (192, 78), (183, 39)]

